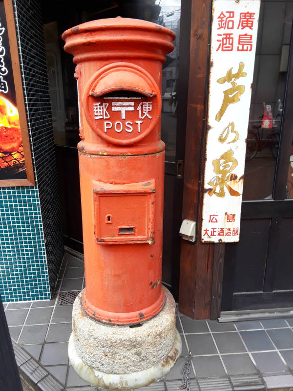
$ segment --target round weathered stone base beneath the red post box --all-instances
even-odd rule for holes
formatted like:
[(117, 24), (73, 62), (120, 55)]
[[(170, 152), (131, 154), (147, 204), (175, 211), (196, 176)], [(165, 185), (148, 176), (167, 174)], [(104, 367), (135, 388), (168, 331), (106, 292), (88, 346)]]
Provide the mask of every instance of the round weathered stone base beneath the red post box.
[(165, 376), (181, 353), (175, 302), (167, 289), (165, 294), (162, 311), (140, 326), (109, 326), (89, 318), (80, 294), (73, 305), (68, 347), (79, 376), (109, 390), (136, 389)]

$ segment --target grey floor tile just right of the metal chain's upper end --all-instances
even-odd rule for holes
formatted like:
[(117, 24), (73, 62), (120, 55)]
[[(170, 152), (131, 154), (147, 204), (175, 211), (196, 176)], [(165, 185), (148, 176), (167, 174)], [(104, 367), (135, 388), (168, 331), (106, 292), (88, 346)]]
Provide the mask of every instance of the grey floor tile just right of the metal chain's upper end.
[(196, 376), (198, 377), (216, 377), (226, 375), (219, 356), (193, 357), (192, 361)]

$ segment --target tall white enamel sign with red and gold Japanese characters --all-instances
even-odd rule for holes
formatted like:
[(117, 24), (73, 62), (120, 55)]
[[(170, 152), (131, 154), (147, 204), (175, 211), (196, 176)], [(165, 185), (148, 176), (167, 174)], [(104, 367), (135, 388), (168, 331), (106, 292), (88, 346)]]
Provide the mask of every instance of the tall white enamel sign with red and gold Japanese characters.
[(260, 0), (213, 0), (201, 240), (239, 241)]

